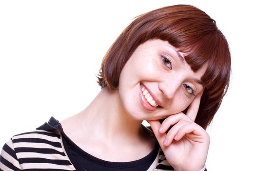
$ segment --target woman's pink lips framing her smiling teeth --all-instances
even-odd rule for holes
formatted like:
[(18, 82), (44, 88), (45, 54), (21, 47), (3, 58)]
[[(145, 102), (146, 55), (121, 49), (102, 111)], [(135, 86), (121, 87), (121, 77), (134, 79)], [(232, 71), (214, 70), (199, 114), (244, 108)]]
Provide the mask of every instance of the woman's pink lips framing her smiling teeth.
[(143, 95), (143, 93), (142, 93), (142, 91), (141, 91), (141, 85), (143, 85), (143, 84), (141, 83), (140, 86), (139, 86), (139, 99), (140, 99), (140, 103), (142, 104), (142, 106), (143, 106), (144, 108), (146, 108), (147, 110), (150, 110), (150, 111), (158, 109), (159, 106), (160, 106), (159, 100), (156, 98), (156, 96), (154, 95), (154, 93), (152, 93), (145, 85), (143, 85), (143, 86), (148, 90), (148, 92), (151, 94), (152, 98), (153, 98), (153, 99), (156, 101), (156, 103), (158, 104), (158, 107), (153, 107), (153, 106), (151, 106), (151, 105), (148, 103), (147, 99), (145, 98), (145, 96)]

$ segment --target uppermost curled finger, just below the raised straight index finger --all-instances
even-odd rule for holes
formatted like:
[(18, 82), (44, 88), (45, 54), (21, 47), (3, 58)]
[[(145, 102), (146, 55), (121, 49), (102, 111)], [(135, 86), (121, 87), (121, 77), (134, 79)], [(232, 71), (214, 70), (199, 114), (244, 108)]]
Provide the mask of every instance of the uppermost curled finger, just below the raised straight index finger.
[(174, 115), (171, 115), (167, 117), (161, 124), (161, 127), (159, 128), (160, 133), (166, 132), (171, 126), (177, 124), (180, 120), (185, 120), (188, 122), (191, 122), (191, 119), (186, 116), (184, 113), (180, 112)]

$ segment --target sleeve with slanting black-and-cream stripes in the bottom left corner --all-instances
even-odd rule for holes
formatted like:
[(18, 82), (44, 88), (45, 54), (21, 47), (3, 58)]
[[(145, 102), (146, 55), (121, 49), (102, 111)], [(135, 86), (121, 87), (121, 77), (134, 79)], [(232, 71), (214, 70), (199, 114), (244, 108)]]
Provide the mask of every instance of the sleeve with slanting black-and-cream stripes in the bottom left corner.
[(21, 171), (12, 139), (10, 139), (1, 150), (0, 171)]

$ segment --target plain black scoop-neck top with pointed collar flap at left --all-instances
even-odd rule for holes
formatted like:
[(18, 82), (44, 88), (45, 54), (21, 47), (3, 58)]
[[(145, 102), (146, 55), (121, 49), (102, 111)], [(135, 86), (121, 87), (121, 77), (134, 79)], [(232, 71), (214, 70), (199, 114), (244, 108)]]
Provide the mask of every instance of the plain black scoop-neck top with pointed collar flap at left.
[[(43, 124), (37, 129), (43, 129), (46, 131), (55, 131), (55, 132), (57, 131), (61, 134), (62, 143), (64, 146), (63, 148), (66, 150), (66, 153), (71, 163), (78, 171), (87, 170), (86, 167), (88, 167), (88, 165), (86, 166), (84, 162), (81, 162), (81, 160), (83, 159), (91, 163), (89, 167), (93, 168), (94, 166), (96, 166), (97, 168), (99, 168), (97, 171), (102, 171), (102, 168), (104, 168), (105, 171), (119, 171), (119, 170), (121, 171), (144, 171), (145, 170), (146, 171), (156, 159), (158, 155), (158, 150), (159, 150), (159, 145), (158, 143), (156, 143), (155, 149), (141, 159), (130, 161), (130, 162), (110, 162), (110, 161), (105, 161), (97, 157), (94, 157), (93, 155), (80, 149), (64, 133), (61, 124), (54, 117), (51, 117), (48, 123)], [(91, 165), (94, 165), (94, 166), (91, 166)], [(100, 168), (101, 166), (102, 168)], [(92, 171), (96, 171), (96, 170), (92, 169)]]

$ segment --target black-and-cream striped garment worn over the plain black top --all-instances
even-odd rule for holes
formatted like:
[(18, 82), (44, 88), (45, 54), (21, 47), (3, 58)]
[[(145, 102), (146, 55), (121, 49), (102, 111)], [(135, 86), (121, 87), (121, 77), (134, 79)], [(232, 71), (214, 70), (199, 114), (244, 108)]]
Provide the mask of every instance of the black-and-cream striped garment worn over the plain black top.
[[(13, 136), (1, 151), (0, 171), (77, 171), (64, 149), (60, 127), (45, 123), (38, 130)], [(159, 149), (147, 171), (174, 169)]]

